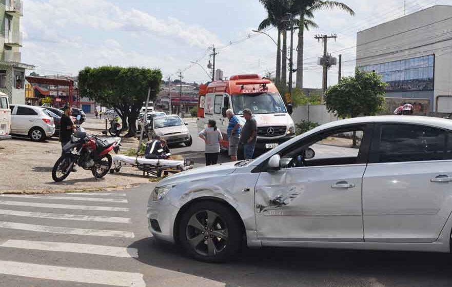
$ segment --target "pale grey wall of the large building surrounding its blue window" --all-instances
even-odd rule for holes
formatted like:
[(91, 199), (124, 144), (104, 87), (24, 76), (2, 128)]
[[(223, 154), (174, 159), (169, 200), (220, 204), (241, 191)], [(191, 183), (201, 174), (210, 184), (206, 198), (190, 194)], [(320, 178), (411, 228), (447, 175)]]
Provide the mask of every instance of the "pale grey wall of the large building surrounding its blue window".
[[(435, 89), (431, 107), (436, 111), (436, 97), (452, 95), (450, 27), (452, 6), (436, 5), (360, 31), (357, 35), (357, 66), (435, 54)], [(391, 94), (388, 93), (387, 97), (400, 97), (400, 94)], [(410, 96), (415, 94), (406, 92), (403, 97), (415, 97)], [(425, 95), (419, 97), (428, 98)]]

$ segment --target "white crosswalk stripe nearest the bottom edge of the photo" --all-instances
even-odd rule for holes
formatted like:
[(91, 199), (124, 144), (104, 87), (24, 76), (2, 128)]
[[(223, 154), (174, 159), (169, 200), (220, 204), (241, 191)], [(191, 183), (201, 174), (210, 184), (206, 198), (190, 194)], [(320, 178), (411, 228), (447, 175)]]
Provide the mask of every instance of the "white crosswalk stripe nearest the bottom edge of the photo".
[(0, 260), (0, 274), (88, 284), (146, 287), (143, 274), (139, 273), (60, 267), (4, 260)]

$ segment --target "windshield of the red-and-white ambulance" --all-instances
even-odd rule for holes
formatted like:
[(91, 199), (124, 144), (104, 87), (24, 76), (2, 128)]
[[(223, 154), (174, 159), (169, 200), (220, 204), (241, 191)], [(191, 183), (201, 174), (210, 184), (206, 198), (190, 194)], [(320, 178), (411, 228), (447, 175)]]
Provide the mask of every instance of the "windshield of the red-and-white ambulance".
[(248, 108), (253, 114), (286, 113), (283, 99), (279, 93), (237, 94), (232, 95), (232, 108), (237, 115)]

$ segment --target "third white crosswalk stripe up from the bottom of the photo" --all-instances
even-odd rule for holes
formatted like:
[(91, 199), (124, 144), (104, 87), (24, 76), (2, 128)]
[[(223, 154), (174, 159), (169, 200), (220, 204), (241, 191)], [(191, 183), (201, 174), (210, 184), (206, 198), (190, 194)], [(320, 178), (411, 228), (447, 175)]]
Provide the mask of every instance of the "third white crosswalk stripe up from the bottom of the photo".
[(124, 237), (124, 238), (135, 237), (133, 232), (130, 232), (130, 231), (44, 226), (44, 225), (26, 224), (26, 223), (17, 223), (17, 222), (8, 222), (8, 221), (0, 221), (0, 228), (26, 230), (26, 231), (34, 231), (34, 232), (75, 234), (75, 235), (85, 235), (85, 236), (107, 236), (107, 237)]

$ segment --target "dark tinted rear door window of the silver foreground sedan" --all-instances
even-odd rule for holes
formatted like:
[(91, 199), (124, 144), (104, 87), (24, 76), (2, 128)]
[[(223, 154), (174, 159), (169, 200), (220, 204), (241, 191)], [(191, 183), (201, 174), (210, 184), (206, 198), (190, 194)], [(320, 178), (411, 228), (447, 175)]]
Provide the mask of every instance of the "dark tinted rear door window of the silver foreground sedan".
[(376, 162), (442, 160), (445, 149), (446, 133), (441, 129), (387, 124), (381, 126)]

